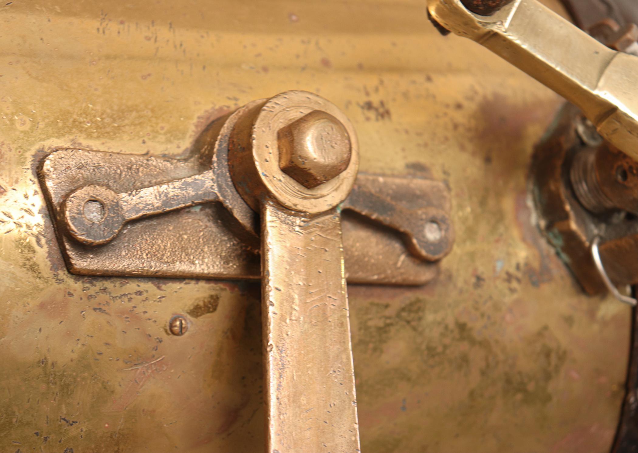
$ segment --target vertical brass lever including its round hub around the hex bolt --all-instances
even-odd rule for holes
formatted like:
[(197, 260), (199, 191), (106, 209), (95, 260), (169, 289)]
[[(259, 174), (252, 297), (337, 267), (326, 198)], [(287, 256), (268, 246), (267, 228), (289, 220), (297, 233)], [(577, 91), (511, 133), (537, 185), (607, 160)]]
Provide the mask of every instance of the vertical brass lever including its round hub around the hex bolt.
[[(313, 115), (319, 108), (322, 115)], [(297, 138), (303, 135), (314, 142), (316, 126), (325, 126), (325, 111), (329, 133), (342, 129), (349, 140), (346, 144), (327, 138), (333, 145), (317, 154), (332, 156), (304, 164), (309, 173), (325, 175), (323, 184), (329, 186), (319, 189), (286, 176), (278, 163), (290, 145), (281, 140), (282, 131), (290, 132), (292, 125)], [(325, 161), (340, 161), (345, 151), (350, 154), (348, 166), (328, 177)], [(230, 135), (228, 160), (235, 186), (251, 184), (249, 191), (239, 189), (246, 202), (261, 207), (264, 451), (360, 452), (337, 209), (359, 170), (352, 123), (316, 94), (281, 93), (242, 113)]]

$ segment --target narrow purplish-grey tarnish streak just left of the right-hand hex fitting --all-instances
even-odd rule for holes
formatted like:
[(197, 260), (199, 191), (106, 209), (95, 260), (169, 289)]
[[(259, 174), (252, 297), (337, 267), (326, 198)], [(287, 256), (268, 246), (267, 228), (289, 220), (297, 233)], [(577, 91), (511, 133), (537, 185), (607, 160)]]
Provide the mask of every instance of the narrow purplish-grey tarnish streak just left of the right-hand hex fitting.
[(516, 209), (516, 223), (523, 241), (532, 246), (538, 254), (538, 269), (530, 263), (524, 265), (524, 272), (533, 286), (540, 286), (553, 279), (553, 258), (555, 255), (549, 249), (537, 225), (533, 223), (531, 209), (527, 202), (527, 193), (521, 192), (514, 198)]

